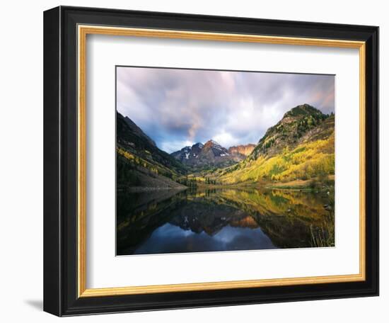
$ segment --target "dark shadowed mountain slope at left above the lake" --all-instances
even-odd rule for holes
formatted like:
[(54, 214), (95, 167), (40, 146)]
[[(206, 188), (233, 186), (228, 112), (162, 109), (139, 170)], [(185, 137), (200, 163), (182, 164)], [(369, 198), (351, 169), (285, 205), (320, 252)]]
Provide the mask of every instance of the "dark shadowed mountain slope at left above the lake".
[(117, 186), (180, 188), (184, 165), (163, 152), (131, 119), (116, 114)]

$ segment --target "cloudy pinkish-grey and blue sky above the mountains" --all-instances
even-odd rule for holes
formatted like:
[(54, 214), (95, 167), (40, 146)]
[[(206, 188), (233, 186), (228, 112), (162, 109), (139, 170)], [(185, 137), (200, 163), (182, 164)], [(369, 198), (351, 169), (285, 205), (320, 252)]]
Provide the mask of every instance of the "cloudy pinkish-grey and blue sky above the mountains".
[(332, 75), (117, 67), (117, 111), (159, 148), (255, 144), (291, 108), (335, 112)]

